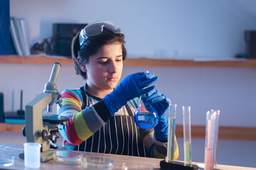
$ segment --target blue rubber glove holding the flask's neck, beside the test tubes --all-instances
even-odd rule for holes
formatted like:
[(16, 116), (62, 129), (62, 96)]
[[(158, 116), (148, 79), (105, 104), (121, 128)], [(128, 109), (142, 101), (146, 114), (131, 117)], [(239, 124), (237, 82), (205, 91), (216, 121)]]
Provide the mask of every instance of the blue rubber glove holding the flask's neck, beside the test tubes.
[(147, 111), (156, 112), (159, 115), (159, 123), (154, 128), (154, 134), (157, 140), (168, 139), (168, 118), (165, 113), (169, 108), (171, 100), (166, 98), (164, 94), (155, 90), (152, 94), (142, 95), (142, 102)]

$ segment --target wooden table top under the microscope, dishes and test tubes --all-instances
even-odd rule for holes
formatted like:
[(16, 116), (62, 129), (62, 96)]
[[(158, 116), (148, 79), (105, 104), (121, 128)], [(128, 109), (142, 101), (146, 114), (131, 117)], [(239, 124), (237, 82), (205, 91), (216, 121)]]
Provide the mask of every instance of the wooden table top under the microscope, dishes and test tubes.
[[(6, 147), (14, 148), (14, 149), (6, 149)], [(0, 156), (13, 156), (14, 157), (14, 165), (7, 166), (4, 169), (26, 169), (24, 166), (24, 160), (18, 157), (18, 154), (21, 153), (23, 149), (22, 145), (6, 145), (0, 144)], [(100, 153), (92, 153), (92, 152), (85, 152), (85, 156), (94, 156), (94, 157), (105, 157), (108, 159), (112, 159), (114, 161), (114, 169), (122, 169), (122, 164), (125, 163), (132, 163), (132, 164), (148, 164), (154, 167), (155, 169), (160, 169), (160, 162), (163, 159), (156, 159), (156, 158), (145, 158), (145, 157), (131, 157), (131, 156), (124, 156), (124, 155), (116, 155), (116, 154), (100, 154)], [(193, 162), (193, 164), (198, 164), (197, 162)], [(228, 166), (228, 165), (218, 165), (218, 169), (220, 170), (250, 170), (255, 168), (249, 167), (242, 167), (242, 166)], [(0, 169), (3, 167), (0, 166)], [(80, 164), (61, 164), (55, 162), (53, 159), (48, 162), (41, 162), (40, 169), (84, 169)]]

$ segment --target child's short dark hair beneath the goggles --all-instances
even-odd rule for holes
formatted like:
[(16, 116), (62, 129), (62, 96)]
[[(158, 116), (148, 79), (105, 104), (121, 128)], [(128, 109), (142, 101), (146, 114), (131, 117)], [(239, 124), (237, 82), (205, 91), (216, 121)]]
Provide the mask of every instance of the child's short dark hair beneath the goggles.
[(73, 38), (71, 50), (73, 62), (75, 65), (75, 73), (80, 74), (83, 79), (87, 79), (87, 77), (86, 73), (82, 72), (82, 70), (80, 69), (80, 63), (78, 63), (77, 61), (78, 56), (82, 58), (82, 62), (87, 63), (89, 61), (89, 57), (91, 55), (95, 55), (100, 47), (102, 47), (103, 45), (110, 45), (114, 44), (115, 42), (119, 42), (120, 44), (122, 44), (122, 60), (125, 60), (125, 58), (127, 57), (127, 50), (124, 47), (124, 34), (113, 33), (111, 30), (104, 28), (102, 33), (88, 38), (80, 47), (80, 31), (78, 31), (78, 34), (75, 35), (75, 38)]

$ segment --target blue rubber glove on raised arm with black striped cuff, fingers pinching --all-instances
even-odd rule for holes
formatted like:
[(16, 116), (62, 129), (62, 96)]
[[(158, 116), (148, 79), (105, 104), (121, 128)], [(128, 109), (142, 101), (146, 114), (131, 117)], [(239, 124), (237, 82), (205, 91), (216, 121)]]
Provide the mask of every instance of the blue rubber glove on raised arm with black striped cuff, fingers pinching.
[[(158, 77), (153, 73), (138, 72), (127, 76), (114, 91), (102, 98), (111, 115), (114, 115), (127, 101), (155, 91), (153, 84)], [(149, 87), (147, 87), (149, 86)]]

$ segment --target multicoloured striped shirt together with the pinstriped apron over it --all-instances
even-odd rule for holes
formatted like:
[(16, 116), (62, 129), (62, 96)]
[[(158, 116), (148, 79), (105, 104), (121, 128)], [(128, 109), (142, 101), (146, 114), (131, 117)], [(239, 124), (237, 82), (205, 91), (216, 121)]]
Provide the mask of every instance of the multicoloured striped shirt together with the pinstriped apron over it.
[[(167, 142), (154, 137), (154, 129), (144, 130), (135, 125), (133, 113), (139, 98), (128, 101), (112, 117), (101, 98), (86, 93), (85, 88), (62, 92), (62, 108), (58, 115), (69, 118), (59, 125), (64, 146), (87, 152), (123, 154), (139, 157), (166, 157)], [(83, 97), (84, 96), (84, 97)], [(178, 159), (178, 145), (175, 158)]]

